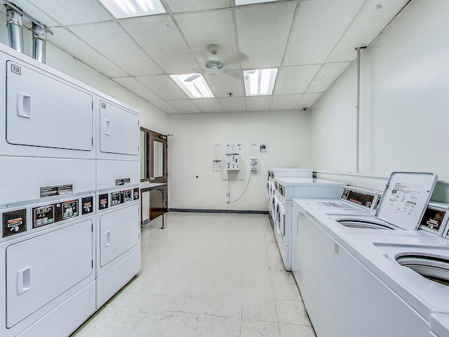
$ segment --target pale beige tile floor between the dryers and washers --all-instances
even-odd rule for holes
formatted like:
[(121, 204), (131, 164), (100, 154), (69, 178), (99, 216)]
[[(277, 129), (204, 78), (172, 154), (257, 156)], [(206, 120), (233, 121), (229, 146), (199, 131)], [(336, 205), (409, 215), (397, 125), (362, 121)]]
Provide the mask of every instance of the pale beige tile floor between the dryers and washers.
[(167, 213), (142, 270), (76, 337), (315, 337), (266, 215)]

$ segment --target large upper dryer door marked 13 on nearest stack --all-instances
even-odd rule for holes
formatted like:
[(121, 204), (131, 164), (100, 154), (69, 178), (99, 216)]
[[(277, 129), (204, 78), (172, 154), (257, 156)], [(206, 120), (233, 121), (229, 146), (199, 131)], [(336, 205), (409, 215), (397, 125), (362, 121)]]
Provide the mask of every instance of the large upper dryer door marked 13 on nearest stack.
[(93, 149), (93, 98), (57, 77), (6, 62), (6, 140), (69, 150)]

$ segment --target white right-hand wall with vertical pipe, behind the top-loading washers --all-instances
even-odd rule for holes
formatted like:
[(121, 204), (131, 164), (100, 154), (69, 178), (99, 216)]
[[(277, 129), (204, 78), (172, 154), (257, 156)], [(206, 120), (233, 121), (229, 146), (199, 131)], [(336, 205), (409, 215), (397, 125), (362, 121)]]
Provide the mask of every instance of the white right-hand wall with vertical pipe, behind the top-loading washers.
[[(318, 176), (368, 176), (365, 185), (376, 186), (391, 171), (407, 170), (449, 180), (447, 13), (449, 1), (413, 0), (362, 53), (360, 174)], [(355, 118), (354, 64), (311, 109), (313, 169), (356, 171)], [(441, 181), (433, 199), (449, 201), (447, 189)]]

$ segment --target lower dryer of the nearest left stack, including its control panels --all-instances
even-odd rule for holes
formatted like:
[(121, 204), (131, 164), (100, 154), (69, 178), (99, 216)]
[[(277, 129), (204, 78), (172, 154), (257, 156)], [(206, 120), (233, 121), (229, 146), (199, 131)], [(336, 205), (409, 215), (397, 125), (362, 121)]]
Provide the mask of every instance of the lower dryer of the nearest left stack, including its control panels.
[(0, 335), (69, 336), (95, 312), (95, 194), (0, 209)]

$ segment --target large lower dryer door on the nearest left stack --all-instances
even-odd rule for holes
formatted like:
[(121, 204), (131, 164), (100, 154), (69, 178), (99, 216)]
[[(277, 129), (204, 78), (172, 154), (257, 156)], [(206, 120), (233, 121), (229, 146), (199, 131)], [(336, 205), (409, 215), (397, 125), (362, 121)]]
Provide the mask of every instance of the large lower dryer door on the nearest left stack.
[(92, 220), (6, 249), (6, 327), (42, 308), (93, 272)]

